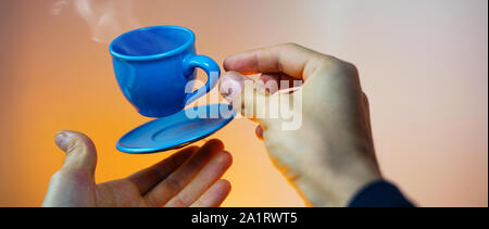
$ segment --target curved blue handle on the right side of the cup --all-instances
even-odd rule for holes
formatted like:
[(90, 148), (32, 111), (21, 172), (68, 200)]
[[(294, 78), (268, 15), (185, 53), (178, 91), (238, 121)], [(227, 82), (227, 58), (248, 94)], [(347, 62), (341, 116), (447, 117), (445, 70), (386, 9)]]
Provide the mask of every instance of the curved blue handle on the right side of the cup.
[(188, 55), (184, 59), (184, 69), (189, 72), (193, 71), (195, 67), (202, 68), (208, 74), (208, 81), (205, 85), (196, 91), (187, 94), (185, 99), (185, 105), (188, 105), (199, 99), (200, 97), (206, 94), (211, 89), (217, 85), (217, 80), (221, 76), (221, 68), (214, 60), (205, 55)]

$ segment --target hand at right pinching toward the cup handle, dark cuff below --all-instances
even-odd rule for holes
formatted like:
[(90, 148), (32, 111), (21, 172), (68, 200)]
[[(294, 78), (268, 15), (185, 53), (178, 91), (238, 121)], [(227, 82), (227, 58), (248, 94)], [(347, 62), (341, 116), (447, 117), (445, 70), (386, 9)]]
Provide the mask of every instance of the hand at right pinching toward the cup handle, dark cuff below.
[[(229, 72), (221, 80), (221, 93), (259, 122), (256, 135), (306, 204), (344, 206), (361, 188), (381, 178), (368, 101), (354, 65), (288, 43), (231, 55), (224, 68)], [(262, 74), (258, 82), (244, 84), (251, 80), (246, 75), (256, 73)], [(279, 93), (284, 88), (274, 87), (279, 80), (302, 80), (302, 90)], [(299, 129), (284, 130), (286, 119), (269, 116), (266, 105), (283, 99), (302, 102)]]

